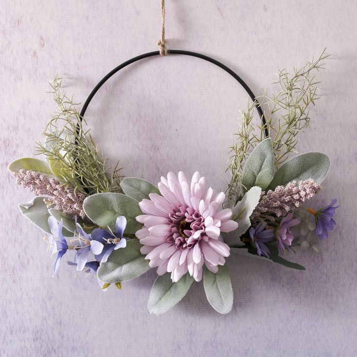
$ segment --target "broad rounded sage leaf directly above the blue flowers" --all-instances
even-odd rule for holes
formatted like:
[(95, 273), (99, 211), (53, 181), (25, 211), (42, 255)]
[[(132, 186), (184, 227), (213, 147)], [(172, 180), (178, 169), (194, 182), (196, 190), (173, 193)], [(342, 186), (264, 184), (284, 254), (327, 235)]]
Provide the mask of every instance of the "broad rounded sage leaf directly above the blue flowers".
[(83, 202), (85, 214), (98, 226), (110, 227), (115, 231), (116, 218), (125, 216), (127, 227), (125, 233), (135, 234), (142, 225), (136, 222), (135, 217), (143, 212), (139, 202), (133, 198), (116, 193), (101, 193), (88, 196)]

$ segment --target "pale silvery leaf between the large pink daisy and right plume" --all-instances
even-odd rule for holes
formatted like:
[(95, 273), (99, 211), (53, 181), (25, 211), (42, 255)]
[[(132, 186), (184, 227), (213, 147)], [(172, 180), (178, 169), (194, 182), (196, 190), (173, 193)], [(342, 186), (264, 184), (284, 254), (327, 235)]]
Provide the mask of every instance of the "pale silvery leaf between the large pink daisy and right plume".
[(222, 233), (222, 237), (230, 247), (244, 245), (239, 237), (246, 232), (251, 223), (249, 217), (257, 207), (260, 200), (261, 188), (258, 186), (252, 187), (241, 201), (232, 208), (232, 220), (238, 222), (238, 228), (229, 233)]

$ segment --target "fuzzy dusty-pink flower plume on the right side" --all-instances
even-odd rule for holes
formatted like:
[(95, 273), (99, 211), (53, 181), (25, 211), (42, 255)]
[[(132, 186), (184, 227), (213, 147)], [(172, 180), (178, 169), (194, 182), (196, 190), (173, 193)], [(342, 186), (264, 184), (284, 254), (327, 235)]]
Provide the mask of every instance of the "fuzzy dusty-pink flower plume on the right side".
[(261, 193), (261, 200), (251, 215), (251, 221), (257, 223), (262, 213), (285, 216), (288, 212), (300, 207), (320, 190), (320, 183), (313, 179), (292, 181), (284, 186), (277, 186), (274, 191)]

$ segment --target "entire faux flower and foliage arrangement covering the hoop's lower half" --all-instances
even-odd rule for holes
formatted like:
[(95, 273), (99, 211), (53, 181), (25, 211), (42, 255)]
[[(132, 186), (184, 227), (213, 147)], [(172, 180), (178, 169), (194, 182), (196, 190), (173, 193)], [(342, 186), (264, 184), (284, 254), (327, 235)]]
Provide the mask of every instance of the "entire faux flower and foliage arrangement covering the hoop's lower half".
[[(225, 192), (212, 189), (198, 172), (169, 172), (157, 186), (113, 173), (84, 130), (78, 104), (51, 82), (57, 113), (36, 154), (9, 165), (16, 184), (35, 197), (19, 209), (46, 233), (55, 255), (53, 276), (63, 257), (97, 277), (103, 290), (156, 268), (148, 309), (161, 314), (176, 305), (194, 281), (203, 280), (207, 299), (220, 313), (232, 308), (226, 260), (240, 255), (292, 269), (287, 251), (313, 249), (335, 226), (336, 199), (324, 208), (308, 200), (321, 192), (330, 166), (325, 154), (296, 152), (298, 134), (309, 126), (309, 106), (318, 98), (315, 71), (325, 50), (292, 73), (280, 71), (263, 91), (266, 125), (255, 124), (255, 101), (242, 111), (230, 148)], [(278, 88), (275, 93), (274, 89)], [(264, 130), (269, 136), (264, 138)], [(71, 254), (73, 253), (73, 254)]]

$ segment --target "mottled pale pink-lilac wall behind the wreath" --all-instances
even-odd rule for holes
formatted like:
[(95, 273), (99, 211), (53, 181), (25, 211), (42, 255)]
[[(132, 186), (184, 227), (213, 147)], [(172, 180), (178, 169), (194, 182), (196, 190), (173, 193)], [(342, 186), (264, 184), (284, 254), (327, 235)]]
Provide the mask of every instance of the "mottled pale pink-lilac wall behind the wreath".
[[(356, 89), (357, 1), (166, 0), (167, 43), (230, 66), (258, 95), (278, 68), (299, 66), (324, 47), (322, 98), (300, 151), (323, 151), (332, 167), (317, 206), (339, 199), (338, 227), (322, 254), (298, 250), (293, 271), (231, 257), (235, 300), (221, 316), (195, 284), (161, 316), (146, 309), (155, 272), (103, 293), (63, 264), (51, 277), (42, 233), (20, 216), (31, 194), (7, 164), (29, 156), (54, 111), (47, 81), (64, 77), (83, 102), (116, 65), (155, 50), (158, 0), (0, 2), (1, 356), (357, 355)], [(227, 147), (247, 96), (204, 61), (152, 58), (116, 75), (87, 120), (123, 174), (157, 182), (168, 170), (199, 170), (224, 188)]]

